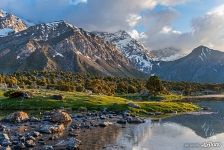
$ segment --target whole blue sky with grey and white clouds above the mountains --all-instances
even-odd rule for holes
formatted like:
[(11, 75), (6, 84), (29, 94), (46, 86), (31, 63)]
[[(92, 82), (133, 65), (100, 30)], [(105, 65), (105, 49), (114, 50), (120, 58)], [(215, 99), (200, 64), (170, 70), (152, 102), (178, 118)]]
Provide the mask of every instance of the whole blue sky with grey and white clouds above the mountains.
[(224, 0), (1, 0), (0, 8), (34, 23), (125, 30), (149, 49), (224, 50)]

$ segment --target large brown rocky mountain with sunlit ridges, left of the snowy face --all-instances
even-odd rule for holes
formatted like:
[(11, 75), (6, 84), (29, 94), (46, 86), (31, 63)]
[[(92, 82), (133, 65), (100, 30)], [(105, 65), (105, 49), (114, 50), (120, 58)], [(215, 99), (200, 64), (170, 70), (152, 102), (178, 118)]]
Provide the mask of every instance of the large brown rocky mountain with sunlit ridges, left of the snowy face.
[(62, 70), (142, 75), (113, 44), (64, 21), (31, 26), (0, 38), (0, 43), (0, 72)]

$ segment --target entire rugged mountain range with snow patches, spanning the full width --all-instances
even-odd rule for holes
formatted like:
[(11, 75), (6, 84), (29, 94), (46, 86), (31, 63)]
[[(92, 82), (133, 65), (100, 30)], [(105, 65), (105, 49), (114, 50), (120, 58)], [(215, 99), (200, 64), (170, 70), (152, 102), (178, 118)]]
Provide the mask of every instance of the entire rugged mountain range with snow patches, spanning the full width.
[[(0, 72), (48, 70), (224, 82), (224, 53), (200, 46), (149, 51), (127, 32), (88, 32), (64, 21), (34, 25), (0, 11)], [(182, 57), (182, 58), (180, 58)], [(177, 59), (180, 58), (180, 59)], [(172, 60), (172, 61), (171, 61)]]

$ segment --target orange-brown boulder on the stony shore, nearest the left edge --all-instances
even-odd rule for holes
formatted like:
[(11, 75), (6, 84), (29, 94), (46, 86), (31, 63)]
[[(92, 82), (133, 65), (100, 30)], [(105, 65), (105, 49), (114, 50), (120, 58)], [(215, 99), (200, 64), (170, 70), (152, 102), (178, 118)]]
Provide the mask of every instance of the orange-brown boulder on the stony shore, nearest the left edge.
[(18, 111), (8, 115), (3, 120), (12, 123), (21, 123), (29, 120), (29, 115), (26, 112)]

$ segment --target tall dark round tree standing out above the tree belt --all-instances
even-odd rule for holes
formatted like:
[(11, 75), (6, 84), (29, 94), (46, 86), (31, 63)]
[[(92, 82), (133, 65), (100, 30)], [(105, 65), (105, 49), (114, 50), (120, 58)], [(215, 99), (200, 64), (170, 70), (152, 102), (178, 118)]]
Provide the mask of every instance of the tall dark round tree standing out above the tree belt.
[(164, 87), (159, 77), (151, 76), (146, 82), (146, 88), (149, 90), (150, 94), (156, 96), (164, 91)]

